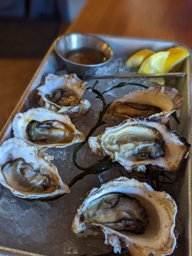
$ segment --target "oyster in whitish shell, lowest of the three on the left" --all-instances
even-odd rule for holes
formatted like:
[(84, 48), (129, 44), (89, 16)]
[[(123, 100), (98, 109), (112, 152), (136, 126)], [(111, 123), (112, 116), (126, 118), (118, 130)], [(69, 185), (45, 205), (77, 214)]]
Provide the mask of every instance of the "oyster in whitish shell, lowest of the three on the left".
[(70, 189), (61, 180), (53, 157), (12, 138), (0, 147), (0, 182), (21, 198), (53, 198)]

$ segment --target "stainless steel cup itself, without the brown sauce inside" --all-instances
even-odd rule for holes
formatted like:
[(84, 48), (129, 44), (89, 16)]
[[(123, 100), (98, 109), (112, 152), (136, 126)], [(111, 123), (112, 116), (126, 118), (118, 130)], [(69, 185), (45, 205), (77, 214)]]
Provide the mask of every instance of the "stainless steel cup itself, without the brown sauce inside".
[[(105, 56), (105, 61), (97, 64), (86, 65), (75, 63), (73, 61), (64, 58), (64, 54), (69, 51), (77, 50), (80, 48), (91, 48), (101, 51)], [(107, 42), (100, 38), (87, 34), (71, 33), (69, 35), (60, 36), (55, 41), (55, 52), (63, 60), (66, 69), (70, 73), (76, 73), (77, 76), (83, 76), (84, 72), (91, 68), (100, 67), (108, 63), (111, 60), (113, 52)]]

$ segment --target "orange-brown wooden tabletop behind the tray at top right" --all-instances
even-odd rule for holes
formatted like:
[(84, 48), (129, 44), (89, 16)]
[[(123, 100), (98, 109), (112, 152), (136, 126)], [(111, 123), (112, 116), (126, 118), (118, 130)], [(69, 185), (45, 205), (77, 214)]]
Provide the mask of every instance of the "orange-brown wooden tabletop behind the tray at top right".
[(68, 33), (177, 40), (192, 48), (191, 0), (87, 0)]

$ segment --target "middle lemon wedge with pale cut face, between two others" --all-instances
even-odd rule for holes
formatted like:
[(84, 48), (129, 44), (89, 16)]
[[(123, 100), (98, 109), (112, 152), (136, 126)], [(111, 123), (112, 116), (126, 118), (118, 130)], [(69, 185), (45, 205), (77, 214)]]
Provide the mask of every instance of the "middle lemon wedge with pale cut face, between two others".
[(140, 65), (140, 68), (138, 69), (139, 74), (158, 74), (158, 73), (164, 73), (165, 72), (165, 62), (168, 58), (168, 55), (170, 52), (168, 51), (162, 51), (157, 52), (149, 56), (144, 62), (142, 62), (142, 65)]

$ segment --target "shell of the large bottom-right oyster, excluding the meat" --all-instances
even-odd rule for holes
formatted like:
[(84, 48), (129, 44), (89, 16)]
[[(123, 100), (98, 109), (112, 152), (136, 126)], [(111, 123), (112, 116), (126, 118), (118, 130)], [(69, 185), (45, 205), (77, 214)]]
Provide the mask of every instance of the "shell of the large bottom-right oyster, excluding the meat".
[[(149, 223), (143, 234), (131, 234), (126, 230), (114, 230), (106, 227), (105, 223), (86, 220), (86, 214), (87, 211), (90, 212), (91, 205), (94, 205), (98, 198), (111, 193), (121, 193), (136, 198), (140, 205), (144, 207)], [(110, 204), (106, 204), (105, 201), (99, 207), (95, 205), (92, 209), (98, 209), (100, 214), (93, 211), (92, 216), (94, 218), (96, 216), (108, 220), (107, 216), (110, 215), (105, 217), (105, 214), (109, 214), (109, 210), (117, 211), (116, 205), (110, 208)], [(104, 211), (103, 214), (102, 211)], [(120, 213), (116, 213), (116, 218), (118, 218), (118, 214), (124, 214), (124, 219), (129, 215), (129, 210), (125, 211), (124, 207), (118, 208), (118, 211)], [(169, 255), (174, 251), (176, 245), (174, 235), (176, 214), (177, 205), (167, 193), (154, 191), (147, 183), (120, 177), (103, 184), (100, 188), (91, 190), (77, 210), (72, 230), (78, 237), (101, 237), (101, 232), (103, 232), (105, 244), (112, 245), (115, 253), (121, 253), (121, 249), (126, 248), (132, 256)]]

